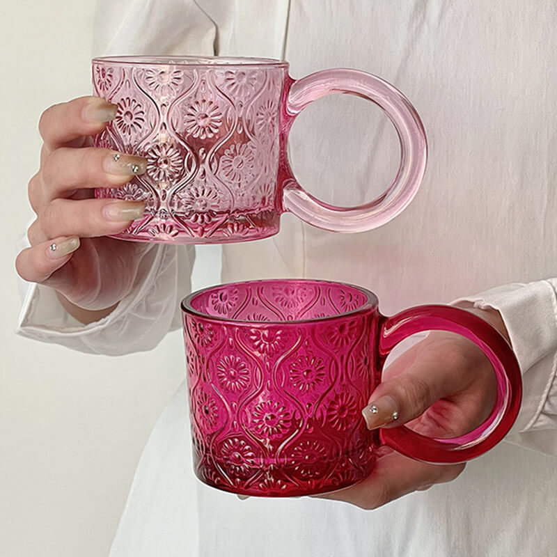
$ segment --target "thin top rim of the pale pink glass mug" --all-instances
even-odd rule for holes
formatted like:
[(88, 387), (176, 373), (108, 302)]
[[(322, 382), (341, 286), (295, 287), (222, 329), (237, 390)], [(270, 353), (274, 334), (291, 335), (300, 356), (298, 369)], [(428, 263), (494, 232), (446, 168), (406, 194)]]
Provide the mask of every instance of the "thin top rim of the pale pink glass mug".
[(275, 58), (256, 58), (253, 56), (96, 56), (95, 63), (116, 65), (172, 65), (182, 68), (199, 68), (201, 66), (217, 68), (237, 68), (244, 66), (288, 68), (288, 62)]

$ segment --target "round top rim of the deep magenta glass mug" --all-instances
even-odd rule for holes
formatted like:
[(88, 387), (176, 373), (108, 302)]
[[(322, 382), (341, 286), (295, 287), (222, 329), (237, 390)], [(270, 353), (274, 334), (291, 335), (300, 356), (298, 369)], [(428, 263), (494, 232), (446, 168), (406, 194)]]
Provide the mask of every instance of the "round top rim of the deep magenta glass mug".
[[(283, 281), (285, 283), (308, 283), (308, 284), (331, 284), (337, 286), (347, 286), (348, 288), (355, 288), (359, 290), (363, 295), (366, 296), (366, 302), (354, 308), (350, 311), (345, 311), (343, 313), (337, 313), (336, 315), (326, 315), (325, 317), (308, 317), (307, 319), (296, 319), (296, 320), (271, 320), (271, 321), (251, 321), (246, 319), (237, 319), (235, 317), (219, 317), (217, 315), (208, 315), (207, 313), (203, 313), (202, 311), (196, 310), (193, 306), (191, 306), (191, 300), (194, 297), (203, 294), (209, 290), (218, 290), (223, 286), (239, 286), (239, 285), (246, 285), (246, 284), (261, 284), (261, 283), (272, 283), (275, 281)], [(242, 325), (250, 325), (251, 327), (257, 326), (260, 327), (262, 325), (289, 325), (289, 324), (302, 324), (302, 323), (313, 323), (313, 322), (324, 322), (330, 321), (334, 319), (338, 319), (340, 317), (347, 317), (349, 315), (358, 315), (360, 313), (366, 313), (370, 310), (377, 310), (379, 306), (379, 299), (377, 296), (367, 288), (363, 288), (363, 286), (359, 286), (352, 283), (345, 283), (342, 281), (327, 281), (324, 278), (262, 278), (256, 279), (251, 281), (233, 281), (230, 283), (223, 283), (223, 284), (214, 284), (212, 286), (207, 286), (206, 288), (201, 288), (200, 290), (196, 290), (195, 292), (191, 292), (189, 295), (184, 297), (180, 302), (180, 308), (182, 313), (189, 313), (190, 315), (195, 315), (196, 317), (202, 317), (208, 321), (217, 321), (221, 323), (232, 323), (232, 324), (242, 324)]]

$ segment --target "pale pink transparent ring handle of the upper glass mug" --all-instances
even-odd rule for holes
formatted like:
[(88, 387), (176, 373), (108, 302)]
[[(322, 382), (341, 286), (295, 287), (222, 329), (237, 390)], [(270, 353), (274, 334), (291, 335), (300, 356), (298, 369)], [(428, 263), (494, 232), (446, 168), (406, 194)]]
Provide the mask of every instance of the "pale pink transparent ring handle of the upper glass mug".
[(335, 207), (308, 194), (297, 182), (282, 142), (283, 210), (318, 228), (334, 232), (364, 232), (396, 217), (421, 185), (427, 161), (427, 141), (420, 117), (409, 100), (375, 75), (359, 70), (324, 70), (292, 81), (285, 99), (285, 139), (296, 116), (314, 100), (331, 93), (350, 93), (375, 102), (389, 116), (400, 140), (400, 166), (393, 183), (379, 198), (359, 207)]

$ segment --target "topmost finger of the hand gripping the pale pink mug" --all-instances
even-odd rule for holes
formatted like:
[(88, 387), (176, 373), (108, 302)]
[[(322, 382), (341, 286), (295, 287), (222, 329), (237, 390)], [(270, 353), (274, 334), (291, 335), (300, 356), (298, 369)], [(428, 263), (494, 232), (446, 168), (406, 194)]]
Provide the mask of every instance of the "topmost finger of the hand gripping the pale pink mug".
[(68, 146), (81, 136), (102, 132), (116, 116), (117, 108), (116, 104), (91, 96), (54, 104), (40, 116), (40, 136), (49, 150)]

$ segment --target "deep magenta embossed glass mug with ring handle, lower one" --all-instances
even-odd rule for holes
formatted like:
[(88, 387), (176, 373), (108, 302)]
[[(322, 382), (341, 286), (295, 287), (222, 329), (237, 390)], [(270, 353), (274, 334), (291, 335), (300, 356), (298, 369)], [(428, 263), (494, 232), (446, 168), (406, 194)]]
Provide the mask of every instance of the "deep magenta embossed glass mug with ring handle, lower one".
[[(299, 496), (363, 480), (377, 448), (423, 462), (464, 462), (492, 448), (521, 402), (515, 354), (496, 329), (450, 306), (384, 317), (365, 288), (270, 280), (214, 286), (182, 301), (194, 470), (237, 494)], [(497, 379), (486, 421), (453, 439), (404, 425), (369, 431), (361, 409), (386, 356), (420, 331), (453, 331), (485, 352)]]

